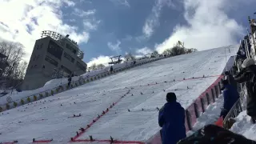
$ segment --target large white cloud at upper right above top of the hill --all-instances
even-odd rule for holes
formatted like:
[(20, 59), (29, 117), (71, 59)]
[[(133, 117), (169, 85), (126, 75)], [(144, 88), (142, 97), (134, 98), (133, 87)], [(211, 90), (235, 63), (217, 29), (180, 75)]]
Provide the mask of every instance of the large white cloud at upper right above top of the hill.
[(236, 38), (242, 37), (243, 27), (228, 18), (225, 12), (226, 6), (232, 7), (235, 2), (185, 0), (184, 18), (188, 26), (176, 26), (169, 38), (156, 45), (156, 50), (161, 53), (178, 41), (185, 42), (187, 48), (198, 50), (238, 43)]

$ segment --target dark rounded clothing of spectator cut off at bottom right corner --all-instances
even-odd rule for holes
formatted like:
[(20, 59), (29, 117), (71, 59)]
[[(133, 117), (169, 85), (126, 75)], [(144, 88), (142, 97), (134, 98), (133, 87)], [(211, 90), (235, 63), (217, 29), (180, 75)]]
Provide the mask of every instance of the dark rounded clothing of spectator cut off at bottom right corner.
[(256, 142), (247, 139), (246, 137), (235, 134), (230, 130), (215, 125), (204, 126), (196, 131), (190, 137), (182, 139), (178, 144), (256, 144)]

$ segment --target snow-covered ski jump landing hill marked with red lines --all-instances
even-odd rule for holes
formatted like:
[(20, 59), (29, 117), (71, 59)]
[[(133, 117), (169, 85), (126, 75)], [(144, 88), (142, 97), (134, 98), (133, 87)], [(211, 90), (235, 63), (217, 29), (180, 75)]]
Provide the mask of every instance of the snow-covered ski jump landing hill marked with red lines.
[(186, 109), (186, 130), (193, 130), (220, 94), (226, 60), (237, 49), (165, 58), (3, 111), (0, 142), (159, 143), (158, 110), (170, 91)]

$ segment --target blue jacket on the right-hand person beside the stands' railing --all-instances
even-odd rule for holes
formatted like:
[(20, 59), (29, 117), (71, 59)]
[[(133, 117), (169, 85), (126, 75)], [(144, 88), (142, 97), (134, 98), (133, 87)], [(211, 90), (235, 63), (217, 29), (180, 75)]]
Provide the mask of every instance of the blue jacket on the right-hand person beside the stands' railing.
[(226, 85), (224, 86), (225, 90), (223, 91), (224, 97), (224, 109), (230, 111), (234, 103), (238, 101), (239, 94), (238, 90), (234, 88), (234, 86)]

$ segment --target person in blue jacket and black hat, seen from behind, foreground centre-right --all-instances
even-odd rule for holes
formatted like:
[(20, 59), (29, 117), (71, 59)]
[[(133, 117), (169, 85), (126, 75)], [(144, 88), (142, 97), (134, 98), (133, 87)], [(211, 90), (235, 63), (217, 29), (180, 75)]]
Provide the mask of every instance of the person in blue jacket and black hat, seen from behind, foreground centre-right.
[(185, 110), (176, 99), (176, 94), (168, 93), (166, 104), (159, 110), (158, 124), (162, 127), (162, 144), (176, 144), (186, 138)]

